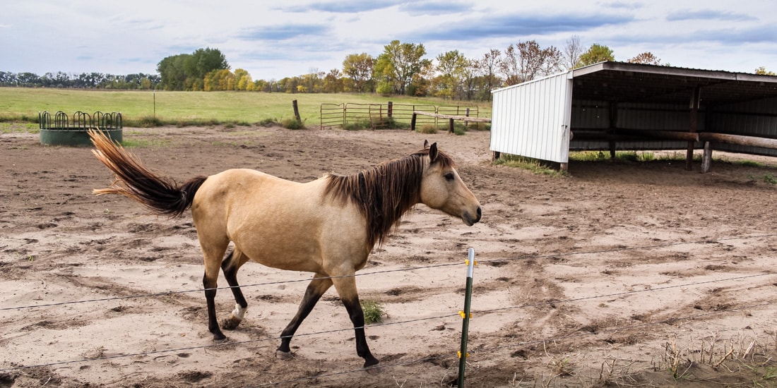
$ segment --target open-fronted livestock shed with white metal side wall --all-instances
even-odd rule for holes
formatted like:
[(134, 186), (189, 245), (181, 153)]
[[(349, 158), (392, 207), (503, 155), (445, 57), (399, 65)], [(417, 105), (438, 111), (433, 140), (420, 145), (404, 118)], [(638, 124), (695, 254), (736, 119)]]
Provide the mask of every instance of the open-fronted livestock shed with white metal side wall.
[(608, 61), (493, 91), (495, 154), (699, 148), (777, 156), (777, 77)]

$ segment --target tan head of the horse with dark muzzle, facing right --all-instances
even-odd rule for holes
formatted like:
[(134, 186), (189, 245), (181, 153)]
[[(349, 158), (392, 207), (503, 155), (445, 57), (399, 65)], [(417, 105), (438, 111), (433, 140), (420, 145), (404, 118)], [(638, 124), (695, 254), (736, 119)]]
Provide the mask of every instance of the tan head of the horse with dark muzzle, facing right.
[(437, 151), (437, 143), (428, 145), (429, 161), (421, 178), (421, 203), (461, 218), (469, 226), (480, 220), (480, 203), (458, 176), (451, 158)]

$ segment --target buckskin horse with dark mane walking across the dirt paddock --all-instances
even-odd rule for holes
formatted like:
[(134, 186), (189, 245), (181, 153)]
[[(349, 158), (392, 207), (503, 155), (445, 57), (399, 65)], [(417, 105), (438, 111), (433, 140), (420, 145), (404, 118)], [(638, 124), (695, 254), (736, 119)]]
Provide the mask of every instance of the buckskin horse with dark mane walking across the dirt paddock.
[[(246, 262), (314, 274), (297, 314), (280, 334), (276, 351), (280, 359), (292, 358), (294, 332), (326, 290), (335, 286), (354, 324), (357, 355), (364, 359), (365, 369), (376, 367), (378, 359), (364, 337), (355, 273), (418, 203), (469, 226), (482, 216), (478, 199), (437, 143), (424, 141), (420, 151), (353, 175), (328, 174), (305, 183), (234, 168), (179, 184), (148, 170), (102, 132), (90, 130), (89, 137), (95, 147), (92, 154), (116, 175), (110, 187), (94, 189), (96, 195), (127, 196), (152, 213), (171, 218), (191, 209), (204, 256), (208, 330), (214, 340), (226, 338), (214, 302), (219, 269), (235, 296), (235, 309), (222, 324), (225, 330), (237, 328), (246, 314), (248, 303), (237, 280)], [(232, 252), (225, 258), (230, 241)]]

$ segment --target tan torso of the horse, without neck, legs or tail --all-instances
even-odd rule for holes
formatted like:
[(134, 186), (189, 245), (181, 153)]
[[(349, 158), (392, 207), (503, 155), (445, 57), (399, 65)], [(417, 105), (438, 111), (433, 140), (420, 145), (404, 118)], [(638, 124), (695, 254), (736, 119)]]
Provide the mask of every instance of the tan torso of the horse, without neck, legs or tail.
[(211, 175), (192, 205), (200, 244), (233, 241), (264, 265), (326, 272), (323, 256), (361, 256), (366, 234), (355, 207), (326, 198), (325, 188), (326, 178), (299, 183), (250, 169)]

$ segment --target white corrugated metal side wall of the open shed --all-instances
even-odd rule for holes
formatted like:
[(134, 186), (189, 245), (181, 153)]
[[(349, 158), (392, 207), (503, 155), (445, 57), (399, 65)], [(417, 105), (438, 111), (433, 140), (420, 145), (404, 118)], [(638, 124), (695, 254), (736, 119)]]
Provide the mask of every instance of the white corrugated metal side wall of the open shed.
[(491, 151), (566, 163), (571, 72), (493, 91)]

